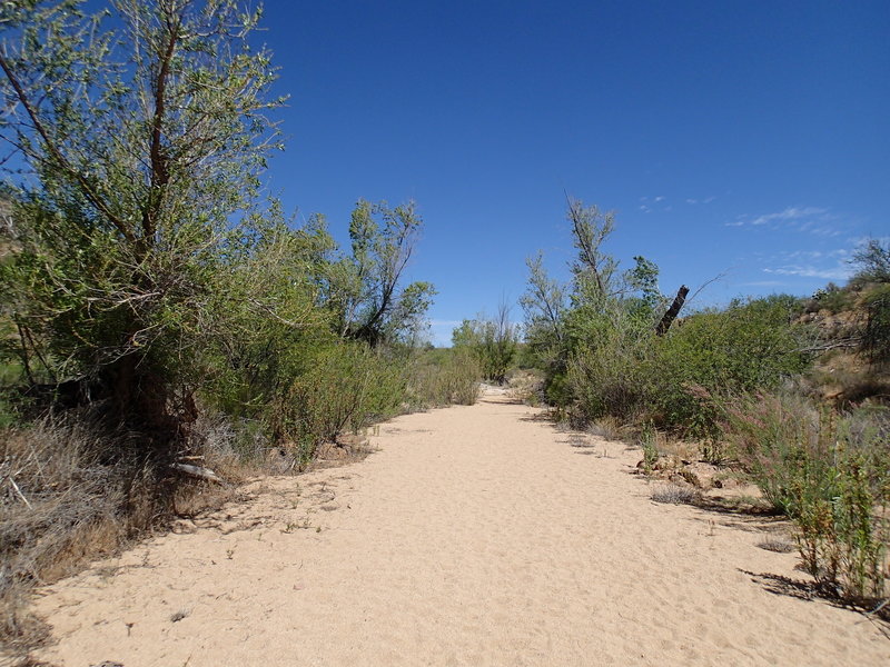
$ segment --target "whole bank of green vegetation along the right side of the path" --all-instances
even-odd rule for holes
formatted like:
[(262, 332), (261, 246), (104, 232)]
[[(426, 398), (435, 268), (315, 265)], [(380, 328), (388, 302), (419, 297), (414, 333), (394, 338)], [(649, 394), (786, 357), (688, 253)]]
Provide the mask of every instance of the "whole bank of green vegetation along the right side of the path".
[[(735, 299), (665, 331), (657, 267), (637, 257), (622, 273), (604, 250), (614, 217), (570, 201), (568, 220), (571, 285), (552, 280), (538, 255), (522, 300), (546, 399), (575, 427), (635, 426), (642, 469), (693, 485), (659, 487), (653, 500), (694, 502), (692, 468), (732, 464), (794, 521), (823, 591), (872, 604), (890, 595), (887, 248), (863, 246), (850, 282), (809, 301)], [(704, 462), (663, 462), (655, 428), (696, 442)]]

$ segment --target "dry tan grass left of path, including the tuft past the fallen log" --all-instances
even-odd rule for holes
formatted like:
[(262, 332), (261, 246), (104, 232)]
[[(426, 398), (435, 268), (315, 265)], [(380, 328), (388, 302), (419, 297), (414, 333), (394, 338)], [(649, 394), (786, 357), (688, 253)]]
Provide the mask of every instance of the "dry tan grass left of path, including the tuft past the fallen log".
[[(229, 481), (256, 474), (266, 460), (265, 449), (221, 421), (196, 424), (190, 440), (172, 455)], [(253, 456), (239, 451), (250, 446)], [(85, 420), (47, 419), (0, 432), (0, 646), (12, 656), (27, 659), (48, 637), (28, 613), (34, 586), (115, 554), (176, 515), (218, 508), (235, 492), (234, 484), (171, 475), (152, 455), (137, 436)]]

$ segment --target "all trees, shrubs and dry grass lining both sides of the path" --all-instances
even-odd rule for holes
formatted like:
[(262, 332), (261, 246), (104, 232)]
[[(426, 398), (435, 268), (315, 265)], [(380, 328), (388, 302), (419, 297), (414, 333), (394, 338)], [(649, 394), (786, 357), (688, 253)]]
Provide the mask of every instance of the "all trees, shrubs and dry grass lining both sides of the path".
[[(227, 497), (220, 480), (304, 470), (370, 424), (472, 405), (483, 379), (578, 431), (639, 429), (647, 474), (660, 432), (693, 441), (702, 461), (684, 465), (732, 464), (793, 520), (823, 591), (890, 596), (886, 245), (867, 242), (848, 285), (809, 299), (681, 311), (689, 289), (663, 293), (642, 256), (622, 270), (606, 249), (614, 215), (570, 199), (571, 281), (541, 255), (527, 261), (524, 342), (502, 303), (464, 320), (453, 349), (429, 349), (436, 292), (406, 271), (423, 227), (413, 202), (358, 199), (340, 247), (322, 215), (297, 226), (264, 201), (285, 100), (271, 97), (270, 54), (249, 42), (260, 12), (111, 7), (111, 20), (78, 0), (2, 9), (2, 127), (17, 153), (0, 186), (10, 643), (46, 635), (23, 611), (30, 587)], [(698, 504), (694, 470), (681, 477), (652, 500)]]

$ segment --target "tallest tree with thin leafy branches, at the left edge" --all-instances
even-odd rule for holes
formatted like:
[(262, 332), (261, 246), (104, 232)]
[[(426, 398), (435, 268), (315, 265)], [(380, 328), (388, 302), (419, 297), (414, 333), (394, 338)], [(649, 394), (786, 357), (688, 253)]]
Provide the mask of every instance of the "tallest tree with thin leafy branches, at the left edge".
[(248, 42), (259, 11), (113, 0), (107, 27), (82, 4), (0, 10), (3, 138), (36, 177), (13, 183), (22, 249), (0, 280), (50, 376), (175, 427), (171, 391), (225, 300), (215, 278), (245, 240), (281, 100)]

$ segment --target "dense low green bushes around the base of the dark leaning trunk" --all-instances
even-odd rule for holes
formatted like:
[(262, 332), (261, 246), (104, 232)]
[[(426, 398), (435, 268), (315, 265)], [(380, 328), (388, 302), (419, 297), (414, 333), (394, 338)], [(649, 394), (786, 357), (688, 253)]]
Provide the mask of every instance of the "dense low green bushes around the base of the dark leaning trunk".
[(568, 317), (574, 352), (562, 385), (554, 376), (551, 387), (567, 394), (562, 405), (578, 421), (651, 419), (702, 439), (705, 458), (716, 461), (723, 456), (719, 414), (700, 390), (775, 387), (809, 364), (799, 351), (805, 331), (794, 323), (801, 305), (793, 297), (733, 301), (686, 318), (665, 337), (655, 336), (651, 310), (629, 305)]

